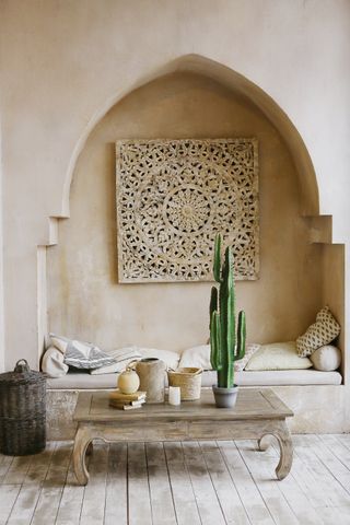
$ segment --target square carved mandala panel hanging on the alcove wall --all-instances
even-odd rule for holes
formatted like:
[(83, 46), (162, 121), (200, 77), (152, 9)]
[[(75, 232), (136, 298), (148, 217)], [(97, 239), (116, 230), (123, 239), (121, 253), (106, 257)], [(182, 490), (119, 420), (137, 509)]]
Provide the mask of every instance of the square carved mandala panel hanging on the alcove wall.
[(211, 281), (218, 232), (257, 279), (256, 139), (120, 140), (116, 171), (119, 282)]

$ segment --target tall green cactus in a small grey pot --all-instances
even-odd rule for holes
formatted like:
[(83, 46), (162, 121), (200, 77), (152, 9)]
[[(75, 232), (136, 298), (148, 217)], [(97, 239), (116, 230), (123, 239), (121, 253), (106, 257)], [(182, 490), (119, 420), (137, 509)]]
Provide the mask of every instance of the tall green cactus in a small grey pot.
[(210, 298), (210, 361), (218, 372), (213, 394), (218, 408), (231, 408), (237, 397), (234, 384), (234, 362), (245, 354), (245, 313), (240, 312), (236, 334), (234, 260), (231, 246), (221, 266), (221, 235), (215, 237), (213, 275), (219, 285), (212, 287)]

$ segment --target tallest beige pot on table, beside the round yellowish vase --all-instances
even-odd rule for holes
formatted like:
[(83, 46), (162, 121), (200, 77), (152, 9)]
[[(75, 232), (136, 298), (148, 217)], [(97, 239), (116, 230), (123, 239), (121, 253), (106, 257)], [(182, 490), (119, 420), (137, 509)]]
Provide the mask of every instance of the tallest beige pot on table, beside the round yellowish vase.
[(165, 363), (156, 358), (141, 359), (136, 364), (140, 390), (145, 392), (145, 402), (164, 401)]

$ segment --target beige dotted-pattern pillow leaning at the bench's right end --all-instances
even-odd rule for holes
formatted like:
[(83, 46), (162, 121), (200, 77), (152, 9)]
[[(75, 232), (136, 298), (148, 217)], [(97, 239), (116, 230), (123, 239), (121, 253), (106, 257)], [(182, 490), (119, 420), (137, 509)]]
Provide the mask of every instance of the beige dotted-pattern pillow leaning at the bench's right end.
[(328, 306), (316, 315), (316, 323), (311, 325), (303, 336), (296, 339), (298, 355), (305, 358), (317, 348), (331, 342), (340, 334), (340, 326), (332, 316)]

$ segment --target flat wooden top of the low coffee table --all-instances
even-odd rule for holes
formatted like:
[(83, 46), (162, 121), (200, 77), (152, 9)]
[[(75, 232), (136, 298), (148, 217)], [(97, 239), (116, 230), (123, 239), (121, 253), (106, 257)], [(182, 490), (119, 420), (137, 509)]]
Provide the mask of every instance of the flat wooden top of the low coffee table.
[(217, 408), (211, 390), (202, 390), (200, 399), (182, 401), (179, 406), (144, 404), (135, 410), (118, 410), (109, 406), (109, 392), (81, 392), (74, 421), (237, 421), (284, 419), (293, 411), (270, 388), (240, 388), (234, 408)]

